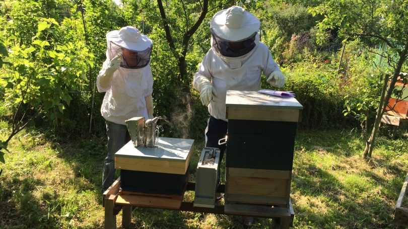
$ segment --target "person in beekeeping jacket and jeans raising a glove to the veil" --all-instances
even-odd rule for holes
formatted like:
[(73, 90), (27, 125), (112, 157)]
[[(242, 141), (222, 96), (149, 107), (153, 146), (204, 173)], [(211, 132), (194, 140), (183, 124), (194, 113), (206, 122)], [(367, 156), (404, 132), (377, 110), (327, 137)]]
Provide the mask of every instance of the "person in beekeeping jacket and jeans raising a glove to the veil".
[(107, 33), (106, 40), (106, 60), (96, 80), (98, 92), (106, 92), (101, 113), (106, 120), (108, 155), (102, 191), (113, 183), (115, 152), (130, 140), (125, 120), (153, 118), (152, 40), (132, 26)]

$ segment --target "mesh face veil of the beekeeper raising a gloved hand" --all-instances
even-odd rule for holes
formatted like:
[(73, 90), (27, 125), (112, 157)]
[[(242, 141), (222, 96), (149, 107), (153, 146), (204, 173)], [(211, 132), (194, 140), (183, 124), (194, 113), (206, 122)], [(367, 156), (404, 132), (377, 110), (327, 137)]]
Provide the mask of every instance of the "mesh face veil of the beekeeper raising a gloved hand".
[[(112, 59), (118, 54), (122, 55), (122, 62), (120, 63), (121, 67), (124, 68), (142, 68), (145, 67), (146, 65), (149, 64), (150, 62), (150, 54), (152, 53), (152, 47), (151, 45), (149, 48), (146, 50), (129, 50), (132, 51), (133, 53), (131, 55), (123, 55), (123, 49), (119, 45), (116, 45), (113, 42), (109, 42), (108, 44), (108, 53), (109, 53), (109, 59)], [(129, 66), (129, 63), (137, 63)]]

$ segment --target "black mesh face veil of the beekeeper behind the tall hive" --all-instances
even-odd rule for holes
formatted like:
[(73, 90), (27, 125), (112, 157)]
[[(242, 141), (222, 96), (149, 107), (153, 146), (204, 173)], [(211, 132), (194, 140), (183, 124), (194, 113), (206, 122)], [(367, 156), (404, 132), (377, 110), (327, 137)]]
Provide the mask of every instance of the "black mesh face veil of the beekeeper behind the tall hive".
[[(211, 35), (213, 39), (213, 47), (215, 50), (223, 56), (227, 57), (239, 57), (247, 54), (255, 47), (255, 36), (256, 32), (253, 33), (250, 37), (245, 38), (244, 40), (240, 41), (228, 41), (222, 39), (221, 37), (217, 36), (213, 30), (211, 30)], [(240, 42), (240, 47), (234, 48), (231, 43), (238, 43)]]

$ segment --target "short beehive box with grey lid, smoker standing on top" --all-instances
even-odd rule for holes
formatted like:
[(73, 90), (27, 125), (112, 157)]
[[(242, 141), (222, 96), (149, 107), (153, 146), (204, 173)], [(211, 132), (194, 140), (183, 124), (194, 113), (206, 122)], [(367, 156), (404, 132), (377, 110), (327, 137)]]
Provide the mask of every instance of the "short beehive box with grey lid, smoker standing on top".
[(159, 137), (158, 147), (134, 147), (132, 141), (115, 154), (124, 191), (181, 195), (188, 182), (194, 140)]

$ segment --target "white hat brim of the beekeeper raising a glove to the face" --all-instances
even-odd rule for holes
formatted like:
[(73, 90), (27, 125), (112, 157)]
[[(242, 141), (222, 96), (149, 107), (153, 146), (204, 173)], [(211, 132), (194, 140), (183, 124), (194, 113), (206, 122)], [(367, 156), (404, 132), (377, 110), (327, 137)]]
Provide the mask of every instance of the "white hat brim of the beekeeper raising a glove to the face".
[(119, 37), (119, 30), (113, 30), (106, 34), (106, 40), (133, 51), (144, 51), (153, 45), (153, 41), (146, 35), (141, 34), (138, 42), (124, 41)]

